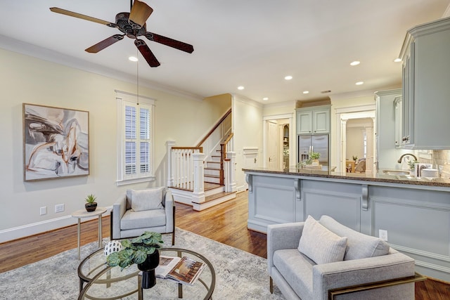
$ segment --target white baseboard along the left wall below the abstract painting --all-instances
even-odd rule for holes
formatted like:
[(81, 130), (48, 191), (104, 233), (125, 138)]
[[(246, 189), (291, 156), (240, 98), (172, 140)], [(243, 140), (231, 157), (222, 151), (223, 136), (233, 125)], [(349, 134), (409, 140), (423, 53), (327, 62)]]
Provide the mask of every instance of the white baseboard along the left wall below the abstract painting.
[[(109, 211), (113, 209), (112, 206), (106, 208), (108, 209), (108, 211), (106, 211), (105, 214), (109, 214)], [(83, 218), (82, 221), (84, 222), (93, 219), (98, 219), (98, 216), (94, 216), (92, 218)], [(36, 235), (38, 233), (45, 233), (46, 231), (55, 230), (58, 228), (63, 228), (65, 226), (70, 226), (74, 224), (77, 224), (77, 218), (72, 218), (72, 216), (68, 215), (56, 219), (50, 219), (37, 223), (27, 224), (24, 226), (0, 230), (0, 243), (8, 242), (11, 240), (17, 240), (22, 237)]]

